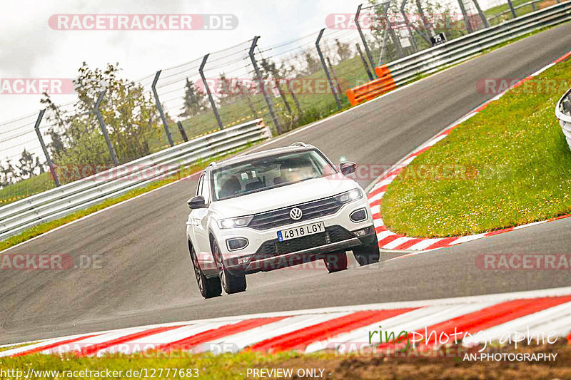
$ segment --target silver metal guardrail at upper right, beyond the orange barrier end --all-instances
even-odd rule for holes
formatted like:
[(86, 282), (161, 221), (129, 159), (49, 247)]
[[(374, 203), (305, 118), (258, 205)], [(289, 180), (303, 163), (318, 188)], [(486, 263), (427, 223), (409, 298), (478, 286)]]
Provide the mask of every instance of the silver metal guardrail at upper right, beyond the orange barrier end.
[(402, 86), (418, 76), (465, 61), (500, 43), (570, 20), (571, 1), (565, 1), (419, 51), (383, 67), (390, 71), (395, 83)]

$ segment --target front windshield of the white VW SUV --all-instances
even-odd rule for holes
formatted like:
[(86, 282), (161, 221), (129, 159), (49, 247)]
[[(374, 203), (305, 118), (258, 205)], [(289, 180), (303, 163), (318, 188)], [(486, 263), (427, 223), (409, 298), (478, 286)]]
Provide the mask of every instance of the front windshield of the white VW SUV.
[(214, 170), (214, 200), (223, 200), (335, 174), (316, 150), (272, 155)]

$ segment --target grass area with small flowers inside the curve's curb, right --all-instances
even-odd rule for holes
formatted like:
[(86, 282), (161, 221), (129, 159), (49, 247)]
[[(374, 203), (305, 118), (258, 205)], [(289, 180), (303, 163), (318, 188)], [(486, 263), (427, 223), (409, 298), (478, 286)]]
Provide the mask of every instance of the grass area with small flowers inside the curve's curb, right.
[[(570, 70), (571, 61), (553, 66), (414, 160), (383, 197), (385, 225), (408, 236), (445, 237), (571, 212), (571, 152), (554, 111), (571, 86)], [(536, 91), (548, 80), (556, 86)]]

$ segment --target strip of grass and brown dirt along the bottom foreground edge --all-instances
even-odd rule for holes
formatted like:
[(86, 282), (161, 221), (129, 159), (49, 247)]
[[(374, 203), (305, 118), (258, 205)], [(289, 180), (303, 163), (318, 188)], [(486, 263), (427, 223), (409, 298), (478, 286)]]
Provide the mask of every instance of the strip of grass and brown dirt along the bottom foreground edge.
[[(305, 355), (296, 352), (201, 355), (172, 351), (168, 355), (149, 352), (101, 358), (34, 354), (14, 359), (0, 358), (0, 369), (21, 371), (21, 378), (24, 378), (30, 369), (34, 369), (34, 379), (109, 379), (106, 370), (121, 371), (121, 374), (118, 372), (111, 374), (112, 379), (271, 377), (267, 372), (263, 373), (266, 376), (260, 376), (259, 372), (258, 376), (255, 376), (252, 371), (248, 374), (248, 369), (258, 369), (258, 371), (288, 369), (288, 376), (281, 376), (282, 379), (568, 379), (571, 376), (571, 346), (567, 344), (566, 339), (558, 339), (555, 344), (519, 344), (517, 348), (513, 344), (506, 346), (495, 344), (488, 346), (485, 351), (500, 354), (557, 354), (555, 361), (469, 360), (465, 356), (467, 352), (466, 349), (453, 346), (435, 351), (434, 355), (410, 351), (398, 356), (335, 354), (333, 351)], [(476, 353), (476, 350), (472, 349), (470, 352)], [(317, 376), (307, 373), (303, 376), (302, 371), (306, 369), (316, 371)], [(176, 374), (173, 374), (175, 370)], [(38, 371), (59, 371), (59, 377), (55, 377), (53, 372), (40, 374)], [(67, 371), (72, 371), (73, 376), (69, 376)], [(74, 374), (74, 371), (77, 372)], [(103, 375), (97, 376), (94, 372), (81, 374), (79, 371), (99, 371)], [(198, 376), (193, 377), (188, 374), (198, 374)]]

